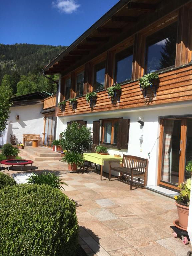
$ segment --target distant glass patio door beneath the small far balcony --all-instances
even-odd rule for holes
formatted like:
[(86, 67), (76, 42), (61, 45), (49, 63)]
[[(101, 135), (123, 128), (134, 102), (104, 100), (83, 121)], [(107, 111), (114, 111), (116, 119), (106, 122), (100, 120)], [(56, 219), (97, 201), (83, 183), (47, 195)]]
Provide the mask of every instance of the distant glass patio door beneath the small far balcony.
[(52, 148), (54, 140), (54, 129), (55, 129), (55, 116), (46, 117), (44, 127), (44, 145)]

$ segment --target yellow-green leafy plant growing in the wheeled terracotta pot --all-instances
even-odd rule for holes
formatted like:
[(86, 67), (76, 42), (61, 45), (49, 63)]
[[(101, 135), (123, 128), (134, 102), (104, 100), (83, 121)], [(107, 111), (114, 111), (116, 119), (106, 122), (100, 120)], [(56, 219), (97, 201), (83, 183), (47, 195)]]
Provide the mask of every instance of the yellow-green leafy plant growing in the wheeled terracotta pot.
[(191, 179), (188, 179), (186, 182), (182, 182), (178, 187), (181, 189), (181, 191), (178, 196), (174, 196), (176, 203), (189, 207)]

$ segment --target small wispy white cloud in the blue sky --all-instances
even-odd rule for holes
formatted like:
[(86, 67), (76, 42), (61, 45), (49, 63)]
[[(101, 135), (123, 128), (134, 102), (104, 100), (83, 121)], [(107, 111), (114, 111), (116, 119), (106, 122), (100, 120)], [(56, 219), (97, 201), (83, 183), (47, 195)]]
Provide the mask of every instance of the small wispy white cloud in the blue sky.
[(80, 7), (80, 4), (77, 4), (75, 0), (57, 0), (52, 2), (52, 5), (60, 12), (67, 14), (75, 12)]

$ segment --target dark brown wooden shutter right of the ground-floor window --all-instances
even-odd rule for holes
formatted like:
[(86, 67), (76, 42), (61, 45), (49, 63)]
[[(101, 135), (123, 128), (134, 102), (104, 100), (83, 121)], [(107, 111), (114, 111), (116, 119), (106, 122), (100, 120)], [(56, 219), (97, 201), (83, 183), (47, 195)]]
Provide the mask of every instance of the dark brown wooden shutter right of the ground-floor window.
[(130, 119), (119, 119), (118, 149), (128, 149)]

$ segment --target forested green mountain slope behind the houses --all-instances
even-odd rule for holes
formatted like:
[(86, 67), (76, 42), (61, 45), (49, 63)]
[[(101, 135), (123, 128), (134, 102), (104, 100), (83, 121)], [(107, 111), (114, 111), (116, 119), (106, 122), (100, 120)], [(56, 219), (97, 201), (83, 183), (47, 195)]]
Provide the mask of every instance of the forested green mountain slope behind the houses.
[(35, 91), (55, 93), (56, 85), (39, 72), (64, 49), (66, 46), (0, 44), (0, 85), (3, 89), (11, 87), (13, 96)]

